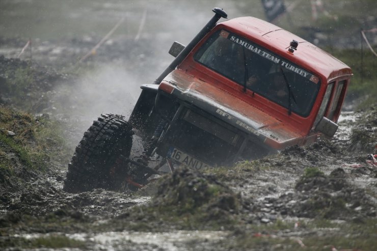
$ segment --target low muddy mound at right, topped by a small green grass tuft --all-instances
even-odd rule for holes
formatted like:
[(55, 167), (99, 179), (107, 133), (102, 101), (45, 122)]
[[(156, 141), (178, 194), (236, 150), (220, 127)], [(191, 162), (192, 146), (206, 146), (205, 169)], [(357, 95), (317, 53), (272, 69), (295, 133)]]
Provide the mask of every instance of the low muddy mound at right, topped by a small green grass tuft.
[(347, 181), (343, 169), (325, 175), (316, 168), (306, 170), (295, 190), (270, 198), (282, 215), (307, 218), (349, 219), (376, 216), (376, 205), (364, 189)]

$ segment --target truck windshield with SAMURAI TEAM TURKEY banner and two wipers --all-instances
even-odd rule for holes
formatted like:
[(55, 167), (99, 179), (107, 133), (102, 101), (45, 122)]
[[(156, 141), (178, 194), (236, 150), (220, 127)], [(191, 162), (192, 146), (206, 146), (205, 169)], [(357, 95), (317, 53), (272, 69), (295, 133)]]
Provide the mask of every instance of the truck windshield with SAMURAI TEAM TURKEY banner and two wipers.
[(237, 34), (220, 30), (194, 60), (232, 81), (307, 117), (317, 96), (317, 76)]

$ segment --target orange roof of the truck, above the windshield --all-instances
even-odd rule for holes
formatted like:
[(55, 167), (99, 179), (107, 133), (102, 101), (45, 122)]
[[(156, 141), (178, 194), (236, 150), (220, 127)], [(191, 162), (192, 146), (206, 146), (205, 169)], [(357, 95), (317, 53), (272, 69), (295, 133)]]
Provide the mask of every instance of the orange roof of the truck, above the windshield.
[[(306, 67), (326, 79), (352, 74), (351, 68), (331, 54), (299, 36), (259, 18), (238, 17), (221, 22), (218, 26), (236, 31), (245, 38), (256, 41), (267, 49), (283, 55), (290, 61)], [(294, 53), (288, 52), (289, 44), (292, 40), (299, 42), (299, 46)]]

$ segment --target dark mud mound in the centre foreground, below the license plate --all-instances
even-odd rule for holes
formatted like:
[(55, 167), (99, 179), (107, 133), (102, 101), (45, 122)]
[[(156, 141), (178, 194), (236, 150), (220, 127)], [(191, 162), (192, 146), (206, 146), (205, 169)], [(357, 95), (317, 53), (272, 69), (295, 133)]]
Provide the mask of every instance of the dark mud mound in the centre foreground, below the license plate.
[(158, 181), (150, 203), (120, 218), (130, 216), (134, 221), (143, 219), (152, 225), (156, 220), (164, 220), (167, 225), (179, 222), (189, 229), (218, 228), (222, 224), (229, 227), (241, 205), (240, 195), (214, 176), (182, 167)]

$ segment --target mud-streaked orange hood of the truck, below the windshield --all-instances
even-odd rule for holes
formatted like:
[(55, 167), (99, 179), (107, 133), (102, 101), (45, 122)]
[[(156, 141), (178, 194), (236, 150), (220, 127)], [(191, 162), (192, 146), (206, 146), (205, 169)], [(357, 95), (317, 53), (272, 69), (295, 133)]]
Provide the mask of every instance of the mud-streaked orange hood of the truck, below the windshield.
[(303, 135), (289, 125), (234, 96), (219, 83), (205, 82), (176, 69), (164, 78), (159, 89), (164, 90), (167, 86), (171, 90), (170, 94), (177, 99), (195, 105), (240, 130), (256, 135), (259, 140), (274, 149), (299, 144), (303, 139)]

